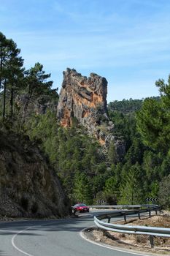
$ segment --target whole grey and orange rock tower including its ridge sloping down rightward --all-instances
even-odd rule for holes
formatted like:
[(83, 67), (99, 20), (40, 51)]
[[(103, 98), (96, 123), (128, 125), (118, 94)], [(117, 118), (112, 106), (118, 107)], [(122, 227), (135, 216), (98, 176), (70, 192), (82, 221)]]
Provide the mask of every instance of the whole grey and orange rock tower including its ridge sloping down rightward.
[(103, 146), (115, 141), (120, 158), (125, 145), (113, 136), (114, 124), (107, 114), (107, 80), (94, 73), (87, 78), (75, 69), (63, 72), (63, 83), (59, 96), (57, 116), (63, 127), (71, 127), (74, 119), (94, 135)]

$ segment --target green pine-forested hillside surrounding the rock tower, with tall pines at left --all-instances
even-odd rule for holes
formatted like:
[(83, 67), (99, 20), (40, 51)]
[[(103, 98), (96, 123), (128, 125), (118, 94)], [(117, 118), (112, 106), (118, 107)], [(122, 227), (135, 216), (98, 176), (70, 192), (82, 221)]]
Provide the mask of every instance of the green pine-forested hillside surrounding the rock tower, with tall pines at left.
[(15, 42), (0, 34), (1, 123), (39, 147), (72, 203), (133, 204), (158, 197), (170, 206), (170, 80), (156, 82), (158, 98), (109, 103), (112, 135), (125, 141), (120, 161), (114, 143), (106, 151), (76, 118), (72, 127), (61, 127), (50, 74), (38, 62), (28, 70), (23, 63)]

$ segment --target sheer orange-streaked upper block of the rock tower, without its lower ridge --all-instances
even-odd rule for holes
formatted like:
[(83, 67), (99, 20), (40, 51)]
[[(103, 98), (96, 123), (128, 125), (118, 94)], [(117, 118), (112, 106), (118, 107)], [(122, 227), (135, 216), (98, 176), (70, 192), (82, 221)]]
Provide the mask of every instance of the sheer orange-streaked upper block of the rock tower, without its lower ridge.
[(75, 69), (63, 72), (63, 84), (57, 116), (63, 127), (70, 127), (74, 117), (80, 124), (97, 124), (97, 112), (107, 117), (107, 80), (91, 73), (87, 78)]

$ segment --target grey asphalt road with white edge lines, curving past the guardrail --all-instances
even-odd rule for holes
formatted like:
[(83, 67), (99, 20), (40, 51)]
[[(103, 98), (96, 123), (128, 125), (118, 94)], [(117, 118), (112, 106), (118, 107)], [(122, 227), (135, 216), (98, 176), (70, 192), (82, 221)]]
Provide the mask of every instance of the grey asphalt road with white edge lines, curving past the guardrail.
[(80, 236), (94, 225), (93, 213), (79, 218), (0, 223), (0, 256), (138, 256), (98, 246)]

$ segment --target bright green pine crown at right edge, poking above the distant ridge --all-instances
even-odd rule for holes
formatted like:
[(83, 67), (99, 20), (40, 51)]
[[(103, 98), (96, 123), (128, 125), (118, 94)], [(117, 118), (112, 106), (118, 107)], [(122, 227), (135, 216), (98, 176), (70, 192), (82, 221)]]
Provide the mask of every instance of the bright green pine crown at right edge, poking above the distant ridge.
[(137, 113), (137, 128), (145, 145), (166, 154), (170, 143), (170, 76), (168, 83), (158, 80), (160, 101), (145, 99)]

